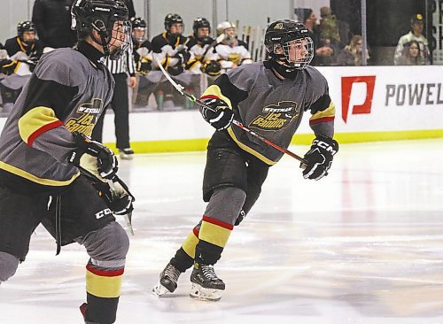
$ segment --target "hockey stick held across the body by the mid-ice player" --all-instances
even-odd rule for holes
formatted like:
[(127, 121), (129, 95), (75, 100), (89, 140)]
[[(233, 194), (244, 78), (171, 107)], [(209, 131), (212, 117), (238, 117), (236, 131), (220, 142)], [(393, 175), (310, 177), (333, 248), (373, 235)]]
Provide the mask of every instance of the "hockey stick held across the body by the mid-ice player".
[[(174, 88), (180, 92), (183, 96), (187, 96), (191, 102), (198, 104), (199, 106), (205, 107), (206, 109), (210, 110), (211, 112), (214, 112), (214, 109), (205, 104), (204, 102), (202, 102), (201, 100), (197, 99), (195, 96), (190, 95), (189, 93), (187, 93), (186, 91), (184, 91), (184, 87), (181, 84), (178, 84), (177, 82), (175, 82), (174, 80), (172, 80), (171, 76), (165, 71), (165, 69), (163, 68), (163, 66), (161, 66), (159, 59), (157, 59), (157, 63), (159, 63), (159, 68), (161, 70), (161, 72), (163, 74), (165, 74), (167, 81), (171, 82), (171, 84), (174, 86)], [(289, 155), (292, 158), (295, 158), (297, 160), (299, 160), (299, 162), (301, 162), (304, 166), (307, 166), (307, 161), (304, 158), (300, 158), (297, 154), (292, 153), (291, 150), (286, 150), (283, 147), (278, 146), (276, 143), (273, 143), (271, 141), (268, 140), (268, 138), (255, 133), (253, 130), (249, 129), (248, 127), (245, 127), (245, 125), (243, 125), (241, 122), (239, 122), (238, 120), (232, 120), (232, 124), (236, 125), (237, 127), (243, 129), (246, 133), (253, 135), (254, 137), (258, 138), (261, 142), (267, 143), (269, 146), (272, 146), (274, 149), (276, 150), (280, 150), (281, 152), (283, 152), (284, 154)], [(301, 166), (303, 167), (303, 166)]]

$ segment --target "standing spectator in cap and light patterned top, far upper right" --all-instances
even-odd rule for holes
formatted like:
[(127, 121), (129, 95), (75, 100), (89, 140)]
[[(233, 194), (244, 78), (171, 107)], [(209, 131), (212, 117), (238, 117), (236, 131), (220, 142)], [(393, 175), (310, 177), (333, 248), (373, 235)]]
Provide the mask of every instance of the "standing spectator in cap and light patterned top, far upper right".
[(423, 58), (424, 65), (431, 64), (431, 58), (429, 54), (428, 40), (423, 35), (424, 18), (420, 13), (412, 16), (411, 18), (411, 30), (408, 34), (402, 35), (395, 49), (393, 56), (393, 63), (396, 66), (401, 64), (401, 56), (405, 48), (405, 44), (411, 41), (418, 42), (421, 56)]

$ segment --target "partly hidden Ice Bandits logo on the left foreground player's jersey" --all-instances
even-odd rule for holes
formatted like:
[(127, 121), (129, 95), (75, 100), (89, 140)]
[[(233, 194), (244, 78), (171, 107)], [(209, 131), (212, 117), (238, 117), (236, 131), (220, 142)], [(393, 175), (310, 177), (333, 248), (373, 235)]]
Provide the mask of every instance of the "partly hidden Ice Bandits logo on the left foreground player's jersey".
[(66, 120), (65, 126), (71, 133), (79, 132), (90, 136), (102, 111), (103, 100), (94, 98), (92, 103), (83, 103), (78, 106), (77, 113), (69, 120)]

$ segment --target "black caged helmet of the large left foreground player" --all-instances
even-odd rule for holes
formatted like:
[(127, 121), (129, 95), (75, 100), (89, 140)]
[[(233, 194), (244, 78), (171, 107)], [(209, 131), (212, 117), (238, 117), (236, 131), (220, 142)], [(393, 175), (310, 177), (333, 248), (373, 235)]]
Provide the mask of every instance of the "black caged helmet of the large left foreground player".
[[(91, 36), (94, 42), (103, 46), (105, 56), (118, 59), (130, 43), (130, 23), (128, 20), (128, 8), (122, 0), (76, 0), (71, 8), (73, 17), (72, 28), (77, 30), (79, 40), (85, 40)], [(125, 40), (120, 48), (111, 53), (109, 45), (113, 43), (113, 26), (115, 21), (122, 21)], [(96, 30), (100, 39), (92, 34)]]

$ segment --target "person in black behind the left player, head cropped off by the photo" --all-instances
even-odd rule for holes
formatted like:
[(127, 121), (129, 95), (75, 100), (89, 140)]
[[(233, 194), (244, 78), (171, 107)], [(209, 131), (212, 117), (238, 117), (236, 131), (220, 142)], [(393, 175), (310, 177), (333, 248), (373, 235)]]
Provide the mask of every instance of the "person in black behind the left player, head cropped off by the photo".
[(44, 46), (73, 47), (77, 42), (71, 29), (73, 3), (74, 0), (35, 0), (32, 21)]

